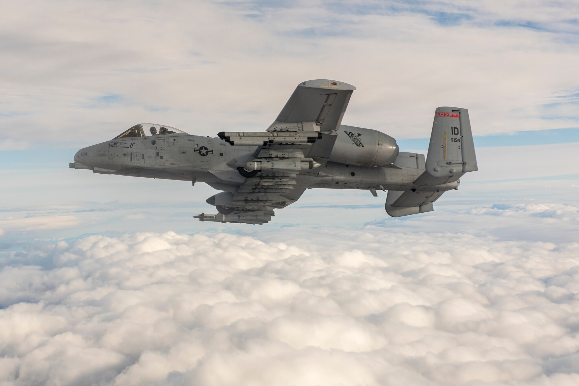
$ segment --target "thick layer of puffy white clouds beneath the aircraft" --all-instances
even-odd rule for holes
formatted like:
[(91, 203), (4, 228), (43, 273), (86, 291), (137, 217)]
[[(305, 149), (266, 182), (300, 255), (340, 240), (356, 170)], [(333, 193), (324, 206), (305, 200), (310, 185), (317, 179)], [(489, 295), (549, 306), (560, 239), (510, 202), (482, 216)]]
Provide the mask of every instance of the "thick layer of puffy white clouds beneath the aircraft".
[[(559, 233), (578, 213), (456, 216)], [(579, 383), (579, 244), (424, 219), (31, 243), (2, 255), (0, 384)]]

